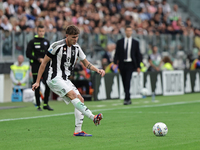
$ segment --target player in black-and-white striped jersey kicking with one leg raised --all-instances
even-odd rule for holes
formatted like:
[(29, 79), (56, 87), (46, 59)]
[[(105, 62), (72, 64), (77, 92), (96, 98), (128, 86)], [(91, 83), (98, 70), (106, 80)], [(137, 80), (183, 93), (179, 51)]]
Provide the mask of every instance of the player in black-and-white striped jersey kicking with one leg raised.
[(87, 59), (81, 47), (76, 43), (78, 40), (80, 30), (74, 26), (66, 28), (66, 38), (50, 45), (47, 54), (40, 65), (37, 81), (32, 86), (32, 90), (39, 87), (40, 78), (45, 70), (46, 64), (50, 61), (49, 74), (47, 84), (50, 89), (57, 95), (62, 97), (66, 104), (70, 102), (75, 107), (75, 132), (74, 136), (92, 136), (82, 131), (82, 123), (84, 115), (92, 119), (95, 125), (100, 124), (103, 115), (93, 115), (92, 112), (84, 105), (84, 99), (80, 95), (77, 88), (68, 79), (73, 71), (75, 62), (80, 59), (84, 66), (88, 69), (96, 71), (102, 77), (105, 71), (97, 69)]

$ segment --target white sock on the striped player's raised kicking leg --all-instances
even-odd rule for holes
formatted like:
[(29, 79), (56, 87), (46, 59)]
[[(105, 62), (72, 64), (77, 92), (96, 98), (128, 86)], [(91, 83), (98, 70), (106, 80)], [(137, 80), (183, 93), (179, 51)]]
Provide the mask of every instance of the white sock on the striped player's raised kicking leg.
[(71, 100), (71, 103), (76, 109), (82, 112), (82, 114), (84, 114), (92, 120), (94, 119), (94, 115), (92, 114), (92, 112), (78, 98)]

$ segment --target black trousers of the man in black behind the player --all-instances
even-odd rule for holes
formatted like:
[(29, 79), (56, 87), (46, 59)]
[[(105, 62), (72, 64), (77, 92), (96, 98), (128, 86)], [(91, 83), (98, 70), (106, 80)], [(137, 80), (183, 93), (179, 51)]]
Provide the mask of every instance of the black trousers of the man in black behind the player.
[[(46, 80), (47, 80), (47, 72), (44, 72), (43, 75), (42, 75), (42, 82), (44, 83), (45, 85), (45, 92), (44, 92), (44, 104), (48, 104), (48, 101), (49, 101), (49, 93), (50, 93), (50, 89), (46, 83)], [(37, 80), (37, 75), (33, 75), (33, 81), (34, 83), (36, 82)], [(40, 87), (38, 87), (36, 90), (35, 90), (35, 98), (36, 98), (36, 104), (37, 106), (40, 106)]]

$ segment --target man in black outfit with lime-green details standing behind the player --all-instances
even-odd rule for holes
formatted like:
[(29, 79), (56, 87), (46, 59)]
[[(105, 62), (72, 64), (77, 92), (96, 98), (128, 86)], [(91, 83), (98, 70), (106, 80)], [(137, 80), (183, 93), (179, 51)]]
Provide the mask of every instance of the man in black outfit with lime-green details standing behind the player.
[[(42, 63), (44, 56), (50, 46), (49, 41), (44, 38), (44, 34), (45, 34), (44, 26), (39, 25), (37, 27), (37, 35), (35, 35), (34, 39), (32, 39), (28, 43), (26, 49), (26, 57), (30, 59), (30, 65), (33, 74), (33, 82), (36, 82), (40, 64)], [(46, 84), (48, 76), (48, 65), (49, 64), (47, 64), (47, 67), (45, 68), (44, 73), (42, 74), (42, 81), (45, 84), (43, 109), (51, 111), (53, 109), (48, 105), (50, 89)], [(37, 88), (35, 90), (35, 98), (36, 98), (37, 110), (42, 111), (42, 109), (40, 108), (40, 88)]]

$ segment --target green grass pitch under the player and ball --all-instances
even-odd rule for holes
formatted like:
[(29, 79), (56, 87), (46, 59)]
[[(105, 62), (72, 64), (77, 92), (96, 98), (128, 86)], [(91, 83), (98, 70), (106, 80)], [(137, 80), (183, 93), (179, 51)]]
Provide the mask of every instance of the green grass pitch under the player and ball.
[[(133, 99), (132, 105), (122, 100), (85, 102), (94, 114), (104, 115), (101, 125), (84, 119), (83, 130), (93, 137), (73, 137), (74, 107), (50, 101), (55, 111), (36, 111), (31, 103), (2, 103), (23, 106), (0, 110), (1, 150), (199, 150), (199, 94), (156, 96)], [(52, 116), (55, 115), (55, 116)], [(35, 118), (30, 118), (35, 117)], [(38, 118), (41, 117), (41, 118)], [(19, 120), (21, 118), (22, 120)], [(15, 119), (15, 120), (5, 120)], [(156, 137), (156, 122), (168, 126), (165, 137)]]

